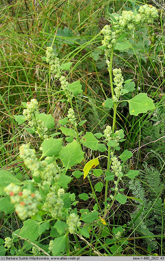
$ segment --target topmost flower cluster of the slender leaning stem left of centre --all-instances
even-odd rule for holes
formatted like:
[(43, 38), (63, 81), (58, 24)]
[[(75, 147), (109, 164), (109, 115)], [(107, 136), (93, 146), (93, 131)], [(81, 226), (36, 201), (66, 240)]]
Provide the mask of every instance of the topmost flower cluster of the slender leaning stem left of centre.
[(61, 76), (60, 60), (54, 54), (51, 46), (46, 47), (46, 62), (50, 64), (50, 70), (53, 72), (54, 77), (59, 78)]

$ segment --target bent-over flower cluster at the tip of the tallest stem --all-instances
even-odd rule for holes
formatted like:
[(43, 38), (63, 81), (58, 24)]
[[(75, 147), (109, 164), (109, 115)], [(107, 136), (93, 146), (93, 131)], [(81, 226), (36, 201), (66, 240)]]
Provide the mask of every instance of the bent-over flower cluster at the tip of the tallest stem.
[(144, 27), (145, 24), (153, 24), (159, 17), (158, 10), (152, 5), (141, 5), (139, 13), (134, 14), (132, 11), (122, 11), (120, 17), (115, 17), (116, 22), (113, 22), (116, 28), (128, 28), (130, 31), (135, 30), (135, 27)]

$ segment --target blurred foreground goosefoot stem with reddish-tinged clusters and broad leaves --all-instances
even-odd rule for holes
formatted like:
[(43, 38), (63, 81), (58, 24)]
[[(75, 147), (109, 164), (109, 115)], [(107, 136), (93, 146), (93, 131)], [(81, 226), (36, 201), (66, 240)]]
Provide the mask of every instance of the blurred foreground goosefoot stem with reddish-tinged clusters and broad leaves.
[[(14, 237), (35, 241), (50, 229), (50, 236), (55, 238), (52, 253), (56, 256), (65, 251), (68, 233), (81, 234), (81, 230), (78, 231), (81, 226), (79, 216), (71, 207), (76, 204), (75, 194), (66, 192), (72, 180), (66, 172), (84, 160), (84, 152), (76, 140), (63, 146), (62, 138), (50, 137), (41, 146), (39, 159), (29, 144), (20, 146), (19, 156), (31, 171), (32, 180), (21, 182), (10, 172), (0, 171), (0, 178), (4, 179), (0, 193), (5, 196), (0, 200), (0, 210), (5, 214), (15, 210), (24, 221), (21, 230), (14, 232)], [(59, 238), (63, 244), (58, 242)]]

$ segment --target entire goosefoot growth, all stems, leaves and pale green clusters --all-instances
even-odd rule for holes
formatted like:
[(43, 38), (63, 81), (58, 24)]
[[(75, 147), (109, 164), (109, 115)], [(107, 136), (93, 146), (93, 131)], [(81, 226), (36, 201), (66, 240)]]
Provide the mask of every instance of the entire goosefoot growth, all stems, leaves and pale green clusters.
[[(41, 234), (46, 233), (50, 229), (50, 236), (54, 240), (53, 243), (51, 241), (47, 251), (54, 256), (62, 252), (65, 254), (65, 248), (67, 254), (69, 253), (66, 244), (69, 232), (89, 237), (90, 226), (94, 220), (97, 220), (97, 223), (100, 225), (107, 225), (110, 233), (111, 230), (109, 230), (106, 221), (109, 209), (111, 209), (115, 200), (121, 204), (125, 204), (127, 201), (127, 196), (123, 194), (124, 189), (119, 188), (119, 181), (124, 176), (133, 179), (138, 175), (139, 171), (131, 169), (126, 175), (123, 174), (123, 162), (132, 157), (130, 151), (125, 150), (119, 157), (115, 155), (115, 150), (120, 150), (119, 145), (124, 141), (125, 136), (122, 129), (115, 130), (117, 106), (122, 102), (120, 100), (121, 95), (135, 90), (135, 83), (132, 82), (132, 79), (124, 81), (120, 68), (112, 70), (112, 62), (113, 50), (115, 48), (120, 50), (119, 46), (122, 46), (123, 50), (123, 48), (130, 47), (131, 44), (128, 44), (128, 41), (125, 42), (123, 40), (121, 42), (118, 41), (118, 38), (123, 32), (132, 30), (132, 28), (135, 30), (134, 28), (140, 25), (138, 22), (139, 17), (143, 19), (143, 24), (153, 23), (157, 18), (157, 10), (149, 5), (144, 5), (139, 8), (139, 13), (124, 11), (121, 16), (112, 14), (113, 26), (106, 25), (101, 31), (104, 36), (102, 44), (105, 50), (112, 94), (112, 98), (107, 98), (103, 106), (110, 109), (113, 108), (112, 127), (106, 126), (103, 134), (86, 132), (82, 137), (82, 131), (78, 131), (78, 126), (81, 126), (85, 120), (78, 122), (78, 117), (76, 117), (72, 105), (73, 97), (82, 92), (81, 84), (80, 81), (71, 84), (68, 82), (67, 78), (63, 75), (63, 71), (69, 70), (72, 63), (68, 62), (60, 65), (60, 60), (54, 54), (52, 47), (47, 47), (46, 57), (43, 57), (43, 60), (49, 63), (50, 71), (56, 79), (60, 80), (63, 93), (67, 97), (66, 101), (71, 106), (67, 117), (59, 121), (61, 125), (69, 125), (69, 128), (60, 127), (60, 130), (66, 136), (65, 140), (68, 144), (63, 146), (62, 138), (54, 139), (50, 137), (49, 129), (54, 128), (54, 119), (51, 115), (39, 113), (36, 99), (32, 99), (27, 103), (24, 102), (25, 109), (23, 115), (14, 116), (18, 124), (23, 124), (27, 121), (30, 127), (26, 127), (25, 130), (32, 134), (36, 133), (43, 139), (40, 147), (42, 156), (38, 159), (36, 151), (30, 149), (29, 144), (20, 147), (20, 158), (23, 159), (26, 167), (30, 169), (32, 180), (21, 182), (10, 172), (0, 171), (0, 177), (4, 178), (5, 176), (5, 182), (0, 187), (1, 195), (5, 196), (0, 200), (0, 210), (4, 211), (5, 214), (10, 214), (15, 209), (18, 217), (25, 220), (21, 230), (15, 231), (14, 236), (17, 235), (17, 238), (23, 237), (30, 241), (36, 241)], [(154, 109), (153, 101), (146, 93), (139, 93), (134, 98), (127, 100), (127, 102), (129, 103), (129, 112), (131, 115), (137, 116), (139, 113), (145, 113)], [(100, 152), (108, 150), (108, 156), (98, 156), (96, 159), (87, 162), (84, 166), (84, 178), (88, 177), (89, 179), (92, 197), (96, 200), (96, 204), (94, 205), (94, 210), (91, 212), (82, 210), (79, 219), (77, 209), (72, 210), (71, 208), (71, 205), (76, 205), (75, 195), (74, 193), (65, 193), (65, 190), (72, 179), (66, 175), (67, 170), (84, 160), (84, 152), (82, 151), (81, 144), (91, 150), (99, 150)], [(100, 192), (103, 189), (103, 182), (100, 182), (99, 177), (99, 182), (93, 188), (90, 175), (88, 175), (91, 169), (93, 169), (93, 173), (96, 173), (97, 169), (95, 167), (99, 165), (98, 159), (100, 157), (108, 159), (106, 171), (98, 169), (99, 173), (101, 173), (100, 175), (103, 174), (105, 180), (105, 182), (103, 181), (105, 184), (105, 199), (103, 202), (99, 202), (96, 196), (96, 191)], [(81, 175), (81, 171), (75, 171), (73, 175), (78, 177)], [(108, 193), (109, 181), (113, 185), (109, 188)], [(79, 197), (84, 200), (89, 198), (86, 193), (80, 194)], [(102, 205), (105, 206), (104, 210), (101, 208)], [(31, 219), (27, 219), (29, 217)], [(80, 220), (87, 223), (87, 228), (85, 226), (80, 228)], [(114, 228), (111, 231), (113, 240), (110, 243), (112, 246), (109, 249), (114, 255), (122, 251), (122, 247), (114, 243), (116, 238), (122, 237), (122, 233), (124, 233), (122, 227)], [(109, 244), (108, 242), (106, 243)], [(128, 242), (126, 240), (122, 241), (123, 244), (128, 244)], [(33, 252), (36, 253), (36, 251)]]

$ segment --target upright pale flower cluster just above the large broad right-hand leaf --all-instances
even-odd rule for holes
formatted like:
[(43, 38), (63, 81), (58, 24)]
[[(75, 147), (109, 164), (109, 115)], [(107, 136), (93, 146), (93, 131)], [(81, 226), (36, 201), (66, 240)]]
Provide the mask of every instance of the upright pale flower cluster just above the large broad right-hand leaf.
[(116, 93), (116, 95), (113, 95), (112, 99), (115, 102), (118, 102), (119, 97), (121, 96), (121, 89), (122, 89), (122, 84), (124, 82), (124, 79), (122, 77), (122, 70), (119, 68), (115, 68), (113, 69), (113, 75), (114, 75), (114, 83), (116, 85), (116, 88), (114, 89), (114, 92)]

